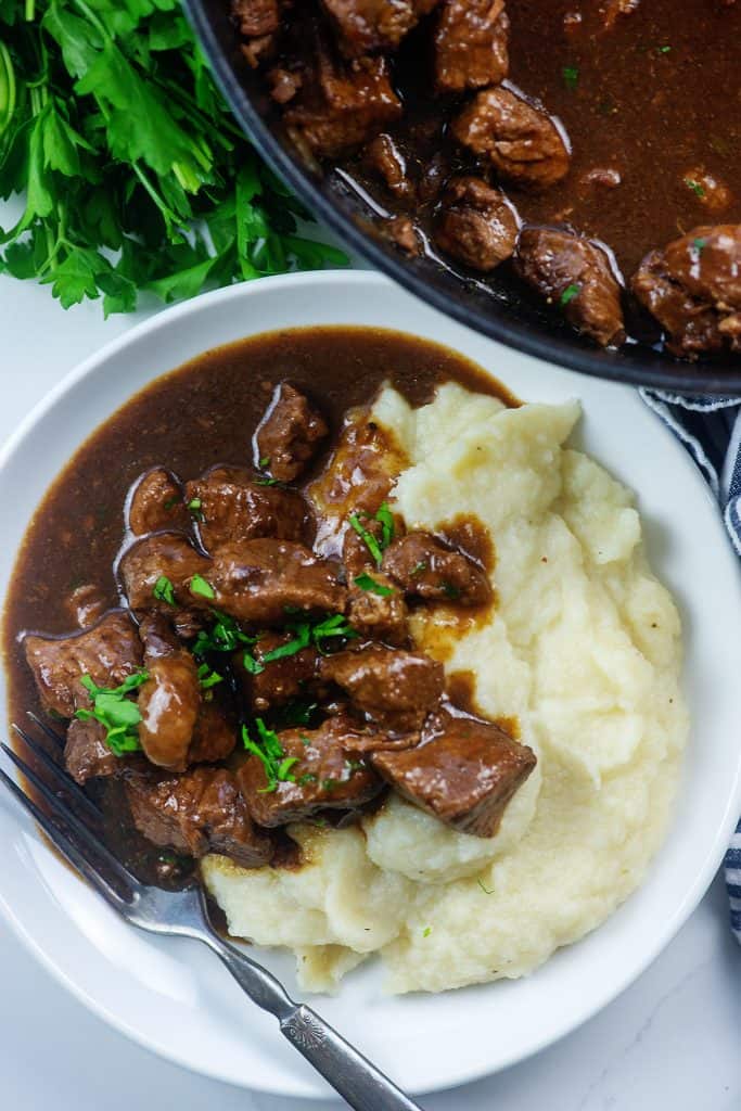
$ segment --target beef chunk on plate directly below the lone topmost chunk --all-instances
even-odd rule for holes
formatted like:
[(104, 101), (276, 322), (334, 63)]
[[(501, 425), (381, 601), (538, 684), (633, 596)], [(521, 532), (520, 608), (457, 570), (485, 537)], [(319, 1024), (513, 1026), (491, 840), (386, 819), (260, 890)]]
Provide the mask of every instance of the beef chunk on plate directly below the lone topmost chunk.
[(301, 540), (307, 520), (303, 498), (292, 490), (260, 486), (241, 467), (214, 467), (189, 482), (189, 504), (196, 504), (203, 547), (256, 537)]

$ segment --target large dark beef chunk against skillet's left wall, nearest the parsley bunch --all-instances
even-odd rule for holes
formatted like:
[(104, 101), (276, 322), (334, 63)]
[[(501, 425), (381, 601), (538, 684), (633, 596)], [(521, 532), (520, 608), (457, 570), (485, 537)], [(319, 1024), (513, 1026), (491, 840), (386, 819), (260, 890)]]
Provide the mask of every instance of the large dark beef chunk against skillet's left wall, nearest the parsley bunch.
[(401, 116), (383, 58), (344, 61), (323, 36), (317, 38), (316, 68), (283, 119), (299, 149), (317, 158), (339, 158), (394, 123)]

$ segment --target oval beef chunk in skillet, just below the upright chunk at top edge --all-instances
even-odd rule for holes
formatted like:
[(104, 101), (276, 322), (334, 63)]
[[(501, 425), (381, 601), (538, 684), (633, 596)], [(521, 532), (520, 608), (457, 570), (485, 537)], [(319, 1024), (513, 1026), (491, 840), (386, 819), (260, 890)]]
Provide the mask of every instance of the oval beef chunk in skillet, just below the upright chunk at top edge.
[(569, 172), (570, 154), (551, 117), (509, 89), (478, 93), (453, 120), (452, 132), (519, 186), (547, 189)]

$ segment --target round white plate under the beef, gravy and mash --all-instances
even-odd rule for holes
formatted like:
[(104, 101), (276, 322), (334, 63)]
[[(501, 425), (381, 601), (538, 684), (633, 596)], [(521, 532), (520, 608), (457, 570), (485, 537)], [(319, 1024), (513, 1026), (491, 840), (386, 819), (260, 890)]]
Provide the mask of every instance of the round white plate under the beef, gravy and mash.
[[(266, 329), (320, 323), (397, 328), (447, 343), (524, 399), (584, 406), (583, 446), (639, 492), (650, 556), (679, 599), (694, 728), (667, 844), (642, 889), (599, 930), (527, 980), (388, 999), (373, 967), (320, 1010), (415, 1092), (494, 1072), (573, 1030), (622, 991), (693, 910), (741, 808), (738, 683), (741, 590), (712, 498), (635, 392), (499, 347), (363, 272), (271, 278), (171, 309), (70, 374), (0, 454), (0, 581), (33, 507), (69, 456), (132, 393), (209, 347)], [(116, 461), (111, 461), (111, 467)], [(4, 698), (4, 690), (0, 692)], [(127, 928), (0, 800), (0, 908), (41, 961), (101, 1018), (208, 1075), (287, 1095), (327, 1088), (196, 943)], [(292, 960), (266, 963), (296, 991)]]

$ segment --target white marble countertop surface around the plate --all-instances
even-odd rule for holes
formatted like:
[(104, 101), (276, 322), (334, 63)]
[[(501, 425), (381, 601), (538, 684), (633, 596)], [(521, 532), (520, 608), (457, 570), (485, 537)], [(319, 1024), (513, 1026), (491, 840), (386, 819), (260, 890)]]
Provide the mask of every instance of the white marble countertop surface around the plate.
[[(0, 278), (0, 440), (49, 387), (134, 322), (64, 313)], [(581, 1030), (428, 1111), (731, 1111), (741, 1107), (741, 950), (720, 879), (672, 944)], [(491, 1032), (492, 1038), (497, 1031)], [(0, 921), (0, 1107), (16, 1111), (331, 1111), (240, 1091), (159, 1060), (88, 1013)]]

